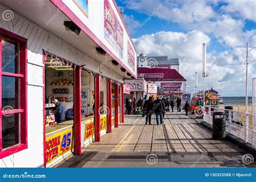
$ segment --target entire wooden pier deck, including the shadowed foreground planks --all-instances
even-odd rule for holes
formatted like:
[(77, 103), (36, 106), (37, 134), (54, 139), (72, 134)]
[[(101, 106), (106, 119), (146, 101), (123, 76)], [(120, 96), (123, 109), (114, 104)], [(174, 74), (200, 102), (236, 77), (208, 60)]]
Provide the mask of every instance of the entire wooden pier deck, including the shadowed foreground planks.
[[(167, 113), (161, 125), (155, 115), (152, 125), (145, 125), (141, 115), (126, 115), (111, 134), (59, 167), (244, 167), (245, 153), (230, 141), (211, 139), (210, 130), (183, 113)], [(148, 163), (149, 155), (157, 163)]]

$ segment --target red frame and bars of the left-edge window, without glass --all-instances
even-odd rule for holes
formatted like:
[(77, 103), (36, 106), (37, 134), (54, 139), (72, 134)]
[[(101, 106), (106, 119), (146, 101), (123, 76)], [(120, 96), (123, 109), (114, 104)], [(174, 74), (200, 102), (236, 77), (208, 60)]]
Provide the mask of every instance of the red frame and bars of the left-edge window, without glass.
[[(17, 43), (19, 43), (19, 74), (12, 74), (12, 73), (3, 73), (2, 70), (0, 71), (1, 75), (0, 75), (0, 90), (2, 90), (2, 73), (3, 75), (7, 75), (7, 76), (13, 76), (13, 77), (17, 77), (20, 78), (19, 84), (20, 84), (20, 88), (19, 88), (19, 102), (20, 102), (20, 108), (19, 109), (15, 109), (12, 110), (15, 113), (21, 113), (21, 121), (20, 121), (20, 143), (18, 145), (15, 146), (11, 146), (8, 149), (4, 149), (2, 150), (2, 113), (9, 113), (8, 111), (2, 111), (2, 102), (1, 102), (1, 112), (0, 112), (0, 126), (1, 126), (1, 130), (0, 130), (0, 158), (4, 158), (6, 156), (10, 156), (18, 151), (24, 150), (28, 148), (28, 97), (27, 97), (27, 93), (28, 93), (28, 88), (27, 88), (27, 72), (28, 72), (28, 68), (27, 68), (27, 39), (18, 36), (15, 33), (6, 31), (2, 28), (0, 28), (0, 37), (2, 40), (2, 37), (6, 38), (6, 39), (10, 39), (13, 41), (16, 41)], [(1, 41), (1, 46), (0, 46), (0, 66), (2, 67), (2, 41)], [(2, 100), (2, 95), (0, 95), (0, 100)]]

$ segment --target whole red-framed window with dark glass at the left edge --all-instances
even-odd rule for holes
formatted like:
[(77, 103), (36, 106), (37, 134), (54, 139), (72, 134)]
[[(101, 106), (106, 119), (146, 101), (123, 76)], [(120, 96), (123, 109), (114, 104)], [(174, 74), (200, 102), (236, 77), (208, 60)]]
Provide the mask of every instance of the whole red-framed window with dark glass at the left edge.
[(0, 29), (0, 158), (26, 149), (26, 39)]

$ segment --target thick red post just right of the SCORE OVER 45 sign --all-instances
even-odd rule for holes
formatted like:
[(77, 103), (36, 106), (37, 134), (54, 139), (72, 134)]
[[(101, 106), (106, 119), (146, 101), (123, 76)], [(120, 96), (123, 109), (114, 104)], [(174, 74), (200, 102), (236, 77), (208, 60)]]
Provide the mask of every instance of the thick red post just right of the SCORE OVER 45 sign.
[(74, 73), (74, 128), (75, 128), (75, 155), (82, 155), (82, 123), (81, 123), (81, 72), (82, 69), (75, 67)]

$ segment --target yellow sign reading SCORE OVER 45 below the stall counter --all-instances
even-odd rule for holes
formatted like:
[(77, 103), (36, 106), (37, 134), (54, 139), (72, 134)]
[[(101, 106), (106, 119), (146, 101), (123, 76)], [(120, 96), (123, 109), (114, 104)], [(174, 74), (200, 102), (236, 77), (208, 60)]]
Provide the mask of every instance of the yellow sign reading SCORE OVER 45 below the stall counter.
[(71, 151), (72, 129), (59, 132), (45, 139), (45, 161), (49, 164), (55, 158)]

